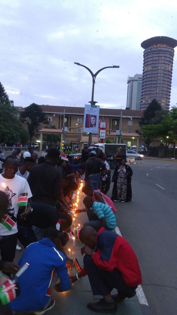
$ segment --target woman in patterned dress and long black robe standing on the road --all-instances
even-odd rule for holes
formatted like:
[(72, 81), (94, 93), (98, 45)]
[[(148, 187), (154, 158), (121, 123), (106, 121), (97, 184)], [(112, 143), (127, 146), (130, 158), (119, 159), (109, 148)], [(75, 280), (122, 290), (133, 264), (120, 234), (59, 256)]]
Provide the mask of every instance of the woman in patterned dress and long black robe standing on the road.
[(112, 200), (114, 201), (131, 201), (132, 188), (131, 178), (133, 171), (130, 166), (126, 165), (126, 159), (121, 159), (121, 164), (117, 165), (114, 174), (112, 176), (112, 182), (114, 182), (112, 190)]

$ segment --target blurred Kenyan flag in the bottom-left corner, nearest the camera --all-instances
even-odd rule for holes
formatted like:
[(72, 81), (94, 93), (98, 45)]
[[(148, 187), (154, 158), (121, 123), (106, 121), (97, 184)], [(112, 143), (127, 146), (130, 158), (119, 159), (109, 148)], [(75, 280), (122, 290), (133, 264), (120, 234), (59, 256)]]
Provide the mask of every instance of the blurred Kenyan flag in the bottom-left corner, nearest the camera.
[(3, 305), (13, 301), (20, 294), (17, 284), (8, 279), (0, 288), (0, 300)]

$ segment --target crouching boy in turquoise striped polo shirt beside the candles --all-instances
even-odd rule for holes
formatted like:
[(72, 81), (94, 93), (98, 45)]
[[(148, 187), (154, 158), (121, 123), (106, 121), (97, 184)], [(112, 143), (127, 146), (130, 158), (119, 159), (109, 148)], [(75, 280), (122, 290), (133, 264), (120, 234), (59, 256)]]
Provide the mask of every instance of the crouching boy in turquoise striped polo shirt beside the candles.
[(89, 220), (89, 222), (84, 223), (84, 226), (92, 226), (95, 231), (98, 231), (101, 227), (104, 227), (106, 230), (113, 230), (116, 227), (115, 215), (106, 204), (95, 202), (89, 196), (83, 199), (83, 203)]

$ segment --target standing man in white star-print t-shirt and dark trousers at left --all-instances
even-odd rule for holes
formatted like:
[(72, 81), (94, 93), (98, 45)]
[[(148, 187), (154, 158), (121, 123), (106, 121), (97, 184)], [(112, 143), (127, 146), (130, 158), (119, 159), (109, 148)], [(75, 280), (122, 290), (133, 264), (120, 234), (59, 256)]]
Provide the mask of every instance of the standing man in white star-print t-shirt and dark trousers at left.
[(18, 164), (17, 157), (9, 155), (3, 164), (4, 173), (0, 174), (0, 190), (4, 191), (8, 197), (7, 215), (15, 222), (11, 230), (0, 223), (0, 250), (3, 261), (13, 261), (15, 257), (18, 234), (16, 218), (19, 208), (17, 203), (21, 193), (28, 194), (28, 203), (26, 213), (22, 213), (20, 217), (25, 218), (26, 215), (31, 213), (31, 190), (26, 179), (16, 175)]

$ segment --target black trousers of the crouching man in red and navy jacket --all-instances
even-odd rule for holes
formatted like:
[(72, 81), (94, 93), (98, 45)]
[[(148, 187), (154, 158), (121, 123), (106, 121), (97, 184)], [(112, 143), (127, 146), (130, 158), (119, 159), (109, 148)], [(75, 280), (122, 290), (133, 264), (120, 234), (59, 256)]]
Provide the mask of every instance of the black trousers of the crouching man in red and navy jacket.
[(92, 288), (93, 295), (108, 295), (115, 288), (118, 292), (133, 293), (137, 286), (129, 287), (125, 284), (121, 272), (116, 268), (113, 272), (100, 269), (94, 264), (91, 256), (85, 255), (83, 265), (88, 273), (88, 279)]

